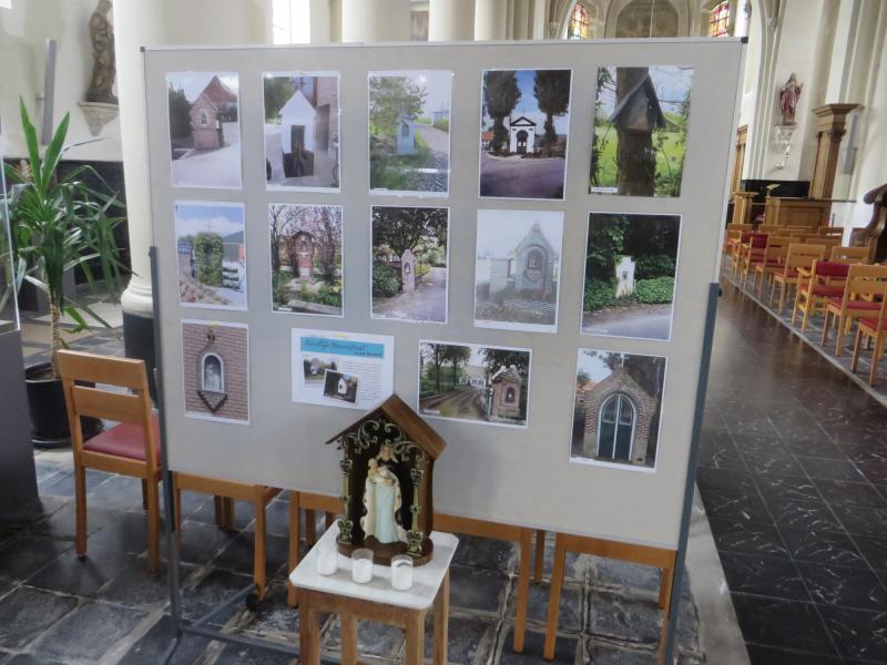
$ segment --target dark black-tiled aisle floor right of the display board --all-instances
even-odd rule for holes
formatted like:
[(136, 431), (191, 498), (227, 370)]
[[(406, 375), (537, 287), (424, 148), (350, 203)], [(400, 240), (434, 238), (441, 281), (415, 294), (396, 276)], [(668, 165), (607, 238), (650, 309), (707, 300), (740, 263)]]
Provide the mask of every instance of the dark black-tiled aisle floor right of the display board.
[(752, 663), (887, 663), (887, 410), (723, 290), (696, 482)]

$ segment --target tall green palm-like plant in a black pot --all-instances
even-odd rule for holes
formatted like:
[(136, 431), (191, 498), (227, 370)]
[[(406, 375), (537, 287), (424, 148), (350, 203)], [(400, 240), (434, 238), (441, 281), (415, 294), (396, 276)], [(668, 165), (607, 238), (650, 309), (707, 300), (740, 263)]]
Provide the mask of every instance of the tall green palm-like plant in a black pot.
[[(89, 327), (84, 315), (110, 327), (89, 305), (65, 293), (64, 277), (80, 268), (93, 293), (98, 277), (104, 280), (109, 293), (119, 293), (125, 268), (118, 258), (114, 228), (123, 217), (112, 214), (121, 204), (92, 167), (82, 165), (64, 175), (58, 173), (62, 156), (73, 147), (64, 144), (70, 114), (59, 123), (41, 156), (37, 130), (21, 99), (19, 106), (28, 160), (19, 168), (3, 165), (11, 185), (7, 203), (17, 268), (14, 289), (18, 291), (22, 283), (28, 282), (45, 294), (52, 332), (52, 360), (24, 370), (31, 434), (37, 446), (63, 446), (70, 441), (70, 431), (64, 393), (55, 368), (55, 351), (67, 347), (62, 339), (62, 317), (67, 315), (74, 321), (71, 332)], [(85, 175), (101, 182), (109, 193), (88, 186), (83, 181)], [(101, 423), (93, 421), (84, 426), (94, 432)], [(84, 436), (86, 433), (84, 431)]]

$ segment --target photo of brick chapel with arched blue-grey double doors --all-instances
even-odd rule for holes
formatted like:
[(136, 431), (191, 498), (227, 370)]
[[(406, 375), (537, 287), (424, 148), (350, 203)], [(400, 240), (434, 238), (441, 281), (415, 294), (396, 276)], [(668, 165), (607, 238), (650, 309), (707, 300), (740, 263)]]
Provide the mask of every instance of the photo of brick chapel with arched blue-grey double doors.
[(656, 464), (665, 358), (579, 349), (572, 461)]

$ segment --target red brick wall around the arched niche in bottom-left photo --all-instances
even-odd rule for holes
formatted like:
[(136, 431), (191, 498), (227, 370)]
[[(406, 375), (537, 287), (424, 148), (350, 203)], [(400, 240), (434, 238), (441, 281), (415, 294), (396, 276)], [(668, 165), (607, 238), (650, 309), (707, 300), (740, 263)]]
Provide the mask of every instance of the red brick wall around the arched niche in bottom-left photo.
[[(210, 330), (215, 340), (207, 338)], [(224, 364), (222, 406), (214, 412), (200, 395), (200, 359), (206, 350), (218, 355)], [(232, 420), (249, 419), (249, 367), (247, 328), (222, 324), (182, 324), (182, 371), (185, 379), (185, 411)]]

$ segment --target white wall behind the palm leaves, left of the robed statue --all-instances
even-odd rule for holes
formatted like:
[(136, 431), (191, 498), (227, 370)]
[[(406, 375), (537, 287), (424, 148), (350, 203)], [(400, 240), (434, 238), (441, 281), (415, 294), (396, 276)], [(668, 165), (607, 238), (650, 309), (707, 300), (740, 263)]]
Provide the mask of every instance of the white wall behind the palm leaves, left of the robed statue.
[[(45, 41), (57, 40), (54, 123), (71, 113), (69, 143), (92, 139), (77, 105), (85, 96), (92, 75), (89, 20), (95, 0), (14, 0), (0, 9), (0, 150), (7, 157), (24, 155), (19, 121), (19, 95), (40, 127)], [(72, 149), (71, 160), (120, 161), (120, 123), (105, 125), (100, 142)]]

